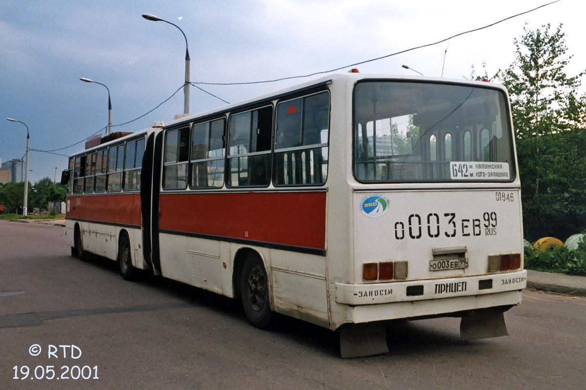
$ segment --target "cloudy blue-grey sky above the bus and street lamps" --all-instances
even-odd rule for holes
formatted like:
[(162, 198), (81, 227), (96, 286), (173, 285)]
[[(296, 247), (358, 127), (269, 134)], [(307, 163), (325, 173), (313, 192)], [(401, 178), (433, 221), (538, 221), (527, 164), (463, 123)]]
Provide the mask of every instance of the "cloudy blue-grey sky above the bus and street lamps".
[[(173, 95), (185, 77), (185, 39), (150, 13), (179, 26), (187, 37), (192, 82), (251, 82), (306, 75), (387, 56), (490, 25), (551, 0), (199, 0), (167, 2), (2, 0), (0, 2), (0, 156), (22, 158), (26, 127), (30, 147), (68, 156), (80, 141), (108, 124), (108, 86), (113, 125), (151, 111)], [(486, 29), (434, 46), (356, 65), (360, 73), (462, 79), (508, 67), (513, 40), (523, 27), (563, 23), (568, 76), (586, 69), (583, 10), (560, 0)], [(346, 72), (350, 67), (337, 71)], [(253, 85), (199, 85), (236, 103), (318, 76)], [(586, 83), (585, 83), (586, 84)], [(190, 88), (190, 113), (225, 103)], [(183, 113), (178, 91), (143, 118), (113, 131), (135, 132)], [(67, 157), (30, 151), (29, 181), (59, 180)]]

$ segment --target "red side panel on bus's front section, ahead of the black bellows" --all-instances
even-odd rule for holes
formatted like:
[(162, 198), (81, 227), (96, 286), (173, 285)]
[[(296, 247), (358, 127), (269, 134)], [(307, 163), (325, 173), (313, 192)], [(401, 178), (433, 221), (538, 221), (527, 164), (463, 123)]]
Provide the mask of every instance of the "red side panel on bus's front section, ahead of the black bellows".
[(137, 193), (70, 195), (67, 196), (67, 202), (67, 218), (141, 225), (141, 195)]

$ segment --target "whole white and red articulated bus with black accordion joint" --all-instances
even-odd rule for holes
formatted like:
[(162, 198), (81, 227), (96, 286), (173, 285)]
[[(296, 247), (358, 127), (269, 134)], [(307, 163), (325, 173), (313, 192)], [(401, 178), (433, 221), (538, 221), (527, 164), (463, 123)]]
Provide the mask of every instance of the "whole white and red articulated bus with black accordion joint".
[(502, 336), (526, 287), (517, 172), (502, 86), (331, 75), (73, 154), (67, 242), (260, 328), (340, 330), (342, 357), (388, 351), (389, 320)]

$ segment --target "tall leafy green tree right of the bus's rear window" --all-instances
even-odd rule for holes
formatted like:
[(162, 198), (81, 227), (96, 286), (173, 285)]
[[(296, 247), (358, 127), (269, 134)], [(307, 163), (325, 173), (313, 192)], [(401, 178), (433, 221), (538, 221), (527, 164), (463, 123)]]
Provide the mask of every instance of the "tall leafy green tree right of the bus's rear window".
[(580, 225), (586, 212), (586, 97), (578, 95), (584, 72), (565, 73), (572, 56), (561, 27), (525, 26), (513, 41), (515, 60), (495, 75), (510, 95), (525, 235), (533, 239), (563, 238), (556, 225)]

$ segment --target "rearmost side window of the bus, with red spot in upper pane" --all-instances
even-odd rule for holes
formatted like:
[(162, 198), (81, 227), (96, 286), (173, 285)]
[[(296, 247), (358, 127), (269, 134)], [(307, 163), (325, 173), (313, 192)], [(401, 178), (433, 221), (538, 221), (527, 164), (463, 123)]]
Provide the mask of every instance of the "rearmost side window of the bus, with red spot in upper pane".
[(278, 104), (275, 186), (325, 183), (328, 177), (328, 127), (328, 92)]

